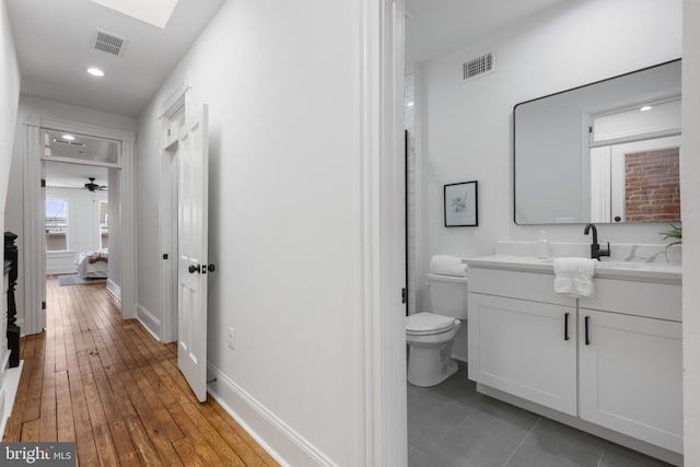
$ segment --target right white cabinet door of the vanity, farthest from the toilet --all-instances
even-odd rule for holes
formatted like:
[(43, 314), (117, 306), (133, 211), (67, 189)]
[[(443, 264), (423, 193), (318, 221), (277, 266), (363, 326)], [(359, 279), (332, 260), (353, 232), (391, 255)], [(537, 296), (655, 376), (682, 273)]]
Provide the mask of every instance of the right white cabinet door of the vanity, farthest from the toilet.
[(681, 324), (586, 308), (580, 319), (581, 418), (681, 453)]

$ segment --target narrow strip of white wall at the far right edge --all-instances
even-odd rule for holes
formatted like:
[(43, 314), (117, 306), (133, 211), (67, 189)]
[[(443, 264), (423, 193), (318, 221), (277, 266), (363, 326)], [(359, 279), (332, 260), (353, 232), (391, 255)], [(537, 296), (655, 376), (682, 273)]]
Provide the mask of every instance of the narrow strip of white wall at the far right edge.
[(687, 466), (700, 465), (700, 1), (684, 1), (682, 63), (682, 354)]

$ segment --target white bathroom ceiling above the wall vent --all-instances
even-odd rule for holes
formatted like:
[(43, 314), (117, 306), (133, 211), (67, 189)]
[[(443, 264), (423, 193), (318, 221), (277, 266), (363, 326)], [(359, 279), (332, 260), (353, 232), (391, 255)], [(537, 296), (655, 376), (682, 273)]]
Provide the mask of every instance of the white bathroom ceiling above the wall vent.
[(572, 0), (406, 0), (406, 62), (445, 55), (563, 1)]

